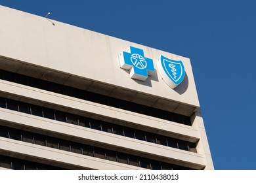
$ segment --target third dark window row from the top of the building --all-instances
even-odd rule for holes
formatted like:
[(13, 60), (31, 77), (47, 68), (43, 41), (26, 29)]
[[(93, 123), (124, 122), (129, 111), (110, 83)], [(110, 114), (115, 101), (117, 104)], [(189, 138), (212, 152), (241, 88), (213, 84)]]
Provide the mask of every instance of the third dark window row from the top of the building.
[(16, 141), (29, 142), (40, 146), (47, 146), (50, 148), (56, 148), (58, 150), (65, 150), (68, 152), (106, 159), (109, 161), (116, 161), (118, 163), (125, 163), (127, 165), (133, 165), (145, 169), (190, 169), (188, 167), (173, 165), (171, 163), (155, 161), (139, 156), (132, 156), (130, 154), (115, 152), (113, 150), (106, 150), (87, 144), (65, 141), (46, 135), (31, 133), (29, 131), (13, 129), (11, 127), (0, 126), (0, 137), (14, 139)]

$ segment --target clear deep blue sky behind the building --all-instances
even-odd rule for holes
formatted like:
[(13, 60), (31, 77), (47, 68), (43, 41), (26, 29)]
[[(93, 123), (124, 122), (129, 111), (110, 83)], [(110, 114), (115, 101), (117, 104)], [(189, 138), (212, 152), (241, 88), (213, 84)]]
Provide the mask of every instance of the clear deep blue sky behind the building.
[(39, 16), (51, 12), (53, 20), (190, 58), (215, 169), (256, 169), (256, 1), (0, 0), (0, 5)]

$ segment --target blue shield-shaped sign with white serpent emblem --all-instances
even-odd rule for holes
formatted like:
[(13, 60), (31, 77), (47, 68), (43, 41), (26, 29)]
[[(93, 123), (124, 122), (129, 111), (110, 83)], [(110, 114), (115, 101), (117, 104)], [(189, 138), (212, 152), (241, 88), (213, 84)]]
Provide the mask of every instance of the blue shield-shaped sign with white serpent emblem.
[(160, 56), (157, 65), (161, 77), (169, 87), (176, 88), (184, 79), (185, 70), (181, 60), (173, 60)]

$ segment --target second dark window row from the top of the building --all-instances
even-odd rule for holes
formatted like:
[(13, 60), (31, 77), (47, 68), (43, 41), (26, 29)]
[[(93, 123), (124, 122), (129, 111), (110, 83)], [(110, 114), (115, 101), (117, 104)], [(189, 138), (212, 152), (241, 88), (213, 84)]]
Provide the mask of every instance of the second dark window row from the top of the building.
[(190, 152), (196, 152), (196, 143), (181, 141), (171, 137), (165, 137), (163, 135), (157, 135), (146, 131), (125, 127), (122, 125), (111, 124), (108, 122), (102, 122), (92, 118), (86, 118), (67, 112), (61, 112), (53, 110), (51, 108), (39, 107), (37, 105), (31, 105), (28, 103), (22, 103), (20, 101), (14, 101), (11, 99), (5, 99), (0, 97), (0, 107), (40, 116), (43, 118), (49, 118), (52, 120), (58, 120), (74, 125), (80, 125), (107, 133), (114, 133), (116, 135), (122, 135), (125, 137), (138, 139), (140, 141), (152, 142), (163, 146), (170, 146), (173, 148), (179, 148)]

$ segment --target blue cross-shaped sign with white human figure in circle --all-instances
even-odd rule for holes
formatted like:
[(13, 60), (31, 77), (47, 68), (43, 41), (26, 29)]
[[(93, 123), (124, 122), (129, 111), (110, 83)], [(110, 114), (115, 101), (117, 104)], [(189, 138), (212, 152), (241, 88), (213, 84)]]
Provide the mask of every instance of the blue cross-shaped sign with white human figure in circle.
[(153, 60), (144, 57), (143, 50), (130, 46), (127, 52), (119, 55), (120, 66), (122, 69), (130, 71), (131, 78), (146, 80), (148, 75), (155, 71)]

